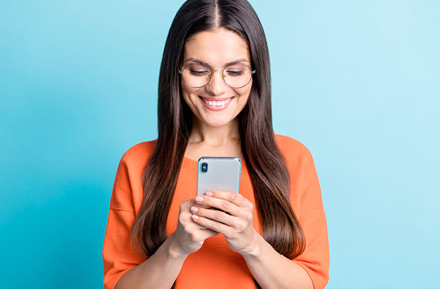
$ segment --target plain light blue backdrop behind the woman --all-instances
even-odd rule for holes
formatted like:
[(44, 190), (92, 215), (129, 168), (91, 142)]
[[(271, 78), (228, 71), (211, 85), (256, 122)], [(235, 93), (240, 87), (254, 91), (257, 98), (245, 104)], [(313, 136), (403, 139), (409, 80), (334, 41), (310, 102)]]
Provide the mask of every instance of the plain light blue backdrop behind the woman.
[[(0, 1), (2, 288), (101, 288), (120, 157), (157, 137), (182, 1)], [(314, 156), (327, 288), (433, 288), (439, 271), (439, 1), (252, 1), (274, 128)], [(438, 286), (438, 285), (437, 285)]]

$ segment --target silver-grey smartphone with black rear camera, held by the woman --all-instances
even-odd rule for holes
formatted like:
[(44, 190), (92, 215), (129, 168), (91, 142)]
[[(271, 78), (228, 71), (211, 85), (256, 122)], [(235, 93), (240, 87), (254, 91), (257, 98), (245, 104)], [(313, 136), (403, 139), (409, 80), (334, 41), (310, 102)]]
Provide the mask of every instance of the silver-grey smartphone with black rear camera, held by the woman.
[(207, 191), (239, 193), (241, 160), (226, 157), (201, 157), (197, 170), (197, 195)]

